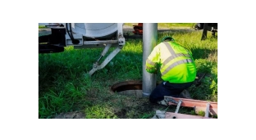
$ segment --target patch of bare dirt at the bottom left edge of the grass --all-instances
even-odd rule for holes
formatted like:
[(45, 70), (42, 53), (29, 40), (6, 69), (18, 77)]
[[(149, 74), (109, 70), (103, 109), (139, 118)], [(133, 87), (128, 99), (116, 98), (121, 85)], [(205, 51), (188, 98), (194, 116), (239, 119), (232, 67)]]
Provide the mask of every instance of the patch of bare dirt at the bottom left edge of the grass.
[(61, 113), (53, 117), (53, 120), (85, 120), (85, 113), (80, 111)]

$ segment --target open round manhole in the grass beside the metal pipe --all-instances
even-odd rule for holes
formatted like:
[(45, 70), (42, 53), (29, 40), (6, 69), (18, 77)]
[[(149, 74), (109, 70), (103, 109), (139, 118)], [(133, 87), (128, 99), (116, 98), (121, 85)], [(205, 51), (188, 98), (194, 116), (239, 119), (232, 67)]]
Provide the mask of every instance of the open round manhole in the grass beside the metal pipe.
[(121, 95), (142, 97), (142, 80), (124, 81), (113, 84), (111, 90)]

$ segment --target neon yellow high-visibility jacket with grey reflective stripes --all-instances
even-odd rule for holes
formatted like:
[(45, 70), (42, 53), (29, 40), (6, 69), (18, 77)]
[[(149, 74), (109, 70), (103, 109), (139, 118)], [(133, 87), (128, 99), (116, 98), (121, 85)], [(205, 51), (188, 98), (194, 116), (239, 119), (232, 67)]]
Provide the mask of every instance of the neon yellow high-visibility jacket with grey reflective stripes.
[(196, 67), (192, 52), (176, 42), (159, 43), (146, 61), (146, 70), (154, 73), (157, 65), (161, 65), (162, 80), (170, 83), (193, 82), (196, 77)]

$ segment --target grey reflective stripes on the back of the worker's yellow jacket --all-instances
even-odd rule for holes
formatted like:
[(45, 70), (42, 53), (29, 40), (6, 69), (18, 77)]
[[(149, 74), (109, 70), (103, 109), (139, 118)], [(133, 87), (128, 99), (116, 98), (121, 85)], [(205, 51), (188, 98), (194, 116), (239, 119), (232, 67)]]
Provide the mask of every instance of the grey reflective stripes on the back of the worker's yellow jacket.
[(191, 56), (190, 56), (190, 53), (189, 53), (189, 52), (188, 52), (188, 54), (175, 53), (169, 43), (164, 42), (164, 44), (166, 45), (168, 51), (171, 53), (171, 56), (169, 56), (165, 61), (163, 61), (162, 66), (161, 66), (161, 69), (162, 69), (162, 67), (163, 67), (164, 65), (166, 65), (168, 62), (170, 62), (171, 60), (173, 60), (173, 59), (176, 58), (176, 57), (179, 57), (179, 56), (187, 56), (187, 57), (190, 57), (190, 59), (184, 59), (184, 60), (181, 60), (181, 61), (176, 61), (176, 62), (174, 62), (173, 64), (169, 65), (166, 70), (164, 70), (164, 71), (162, 72), (162, 75), (167, 74), (167, 72), (170, 71), (172, 68), (174, 68), (176, 65), (180, 65), (180, 64), (184, 64), (184, 63), (191, 63), (191, 62), (193, 62), (193, 60), (191, 59)]

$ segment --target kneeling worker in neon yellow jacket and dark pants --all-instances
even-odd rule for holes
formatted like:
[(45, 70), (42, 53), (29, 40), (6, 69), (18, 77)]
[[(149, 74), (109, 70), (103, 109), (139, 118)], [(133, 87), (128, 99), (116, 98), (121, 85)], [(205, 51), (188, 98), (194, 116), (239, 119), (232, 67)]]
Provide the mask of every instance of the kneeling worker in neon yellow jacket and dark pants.
[(146, 61), (146, 70), (151, 74), (158, 72), (163, 82), (158, 84), (149, 96), (149, 101), (159, 103), (164, 96), (180, 97), (181, 92), (190, 88), (196, 77), (196, 67), (192, 52), (182, 47), (171, 37), (162, 39)]

